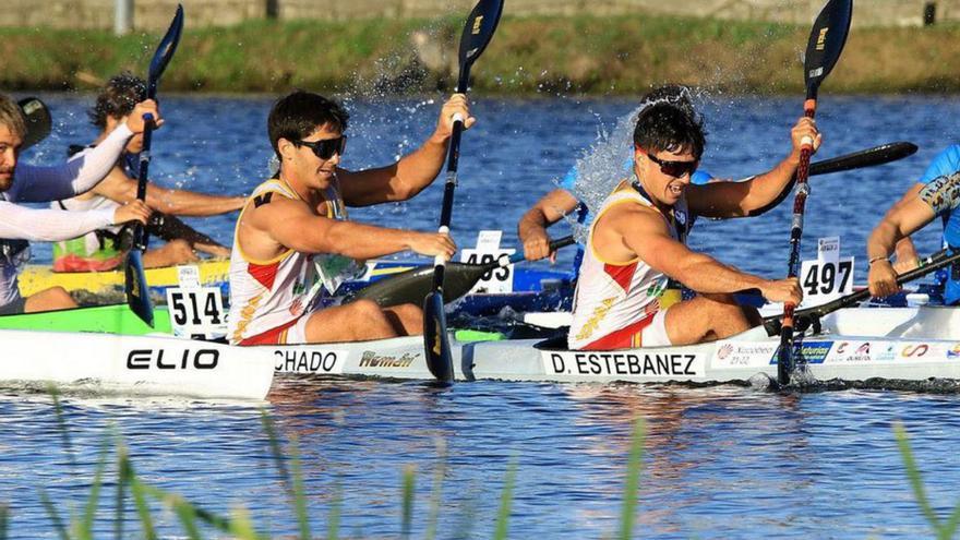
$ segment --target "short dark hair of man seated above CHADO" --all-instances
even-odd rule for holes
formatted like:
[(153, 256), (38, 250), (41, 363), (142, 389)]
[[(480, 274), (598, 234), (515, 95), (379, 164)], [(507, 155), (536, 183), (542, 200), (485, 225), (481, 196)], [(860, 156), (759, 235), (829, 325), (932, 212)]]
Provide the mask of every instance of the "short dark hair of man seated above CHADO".
[(321, 125), (340, 133), (347, 130), (350, 115), (336, 101), (311, 92), (296, 91), (277, 99), (267, 119), (267, 133), (277, 157), (277, 142), (300, 141), (310, 136)]

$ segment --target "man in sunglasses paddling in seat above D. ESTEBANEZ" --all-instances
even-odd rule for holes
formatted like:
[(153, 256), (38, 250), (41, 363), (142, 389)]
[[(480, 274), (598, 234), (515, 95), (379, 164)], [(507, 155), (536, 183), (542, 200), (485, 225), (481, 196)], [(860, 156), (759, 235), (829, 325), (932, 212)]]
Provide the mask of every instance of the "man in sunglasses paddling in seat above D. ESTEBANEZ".
[[(777, 200), (800, 164), (801, 141), (820, 135), (813, 120), (791, 131), (792, 151), (769, 172), (742, 182), (691, 183), (706, 144), (703, 123), (682, 108), (644, 109), (634, 130), (633, 178), (620, 182), (590, 227), (568, 335), (573, 349), (687, 345), (759, 324), (733, 293), (756, 288), (770, 301), (800, 303), (794, 279), (765, 279), (691, 251), (694, 216), (746, 217)], [(698, 295), (672, 305), (662, 293), (675, 279)]]

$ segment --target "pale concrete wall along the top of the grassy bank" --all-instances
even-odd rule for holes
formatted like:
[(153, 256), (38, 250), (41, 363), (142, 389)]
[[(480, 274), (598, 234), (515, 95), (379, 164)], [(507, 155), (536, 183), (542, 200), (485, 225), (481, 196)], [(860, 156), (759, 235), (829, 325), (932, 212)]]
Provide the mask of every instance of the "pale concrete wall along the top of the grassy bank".
[[(180, 0), (188, 27), (224, 26), (261, 19), (273, 4), (279, 19), (348, 20), (358, 17), (466, 16), (476, 0)], [(113, 27), (115, 0), (2, 0), (0, 26), (59, 28)], [(178, 0), (134, 0), (134, 27), (166, 27)], [(855, 26), (910, 26), (923, 21), (924, 4), (934, 3), (937, 21), (960, 21), (960, 0), (860, 0)], [(823, 0), (509, 0), (509, 15), (635, 12), (672, 13), (720, 19), (757, 19), (806, 24)]]

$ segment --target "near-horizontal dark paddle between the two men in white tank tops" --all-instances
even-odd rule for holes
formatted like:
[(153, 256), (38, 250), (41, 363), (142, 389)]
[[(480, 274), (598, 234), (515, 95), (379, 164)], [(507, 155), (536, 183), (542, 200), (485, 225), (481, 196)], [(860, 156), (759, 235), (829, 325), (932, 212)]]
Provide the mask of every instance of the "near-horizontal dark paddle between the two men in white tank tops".
[[(555, 251), (573, 243), (575, 243), (574, 237), (564, 237), (550, 242), (550, 251)], [(469, 292), (488, 272), (509, 266), (523, 260), (523, 253), (514, 253), (509, 257), (502, 255), (496, 261), (485, 264), (448, 263), (444, 272), (444, 303), (453, 302)], [(417, 303), (424, 295), (431, 292), (432, 285), (433, 267), (412, 268), (358, 290), (349, 301), (360, 299), (373, 300), (382, 307)]]

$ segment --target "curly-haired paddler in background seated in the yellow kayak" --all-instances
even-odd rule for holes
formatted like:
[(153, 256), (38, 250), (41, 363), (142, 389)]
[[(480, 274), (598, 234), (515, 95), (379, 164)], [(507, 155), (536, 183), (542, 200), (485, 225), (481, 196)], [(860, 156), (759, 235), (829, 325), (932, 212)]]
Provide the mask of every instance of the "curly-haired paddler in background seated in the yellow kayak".
[[(72, 159), (84, 156), (100, 144), (115, 127), (127, 121), (134, 104), (146, 95), (146, 83), (130, 73), (121, 73), (107, 83), (97, 96), (89, 118), (100, 133), (89, 146), (71, 147)], [(137, 158), (143, 148), (143, 136), (127, 143), (127, 148), (103, 182), (83, 195), (56, 201), (52, 208), (71, 212), (110, 209), (136, 199)], [(221, 196), (180, 189), (163, 188), (151, 182), (146, 190), (146, 205), (154, 211), (147, 226), (152, 237), (167, 243), (148, 249), (143, 255), (147, 268), (173, 266), (197, 261), (196, 252), (227, 257), (230, 251), (211, 237), (197, 232), (176, 216), (203, 217), (239, 209), (242, 196)], [(121, 227), (108, 227), (82, 237), (53, 244), (55, 272), (103, 272), (117, 268), (123, 262), (132, 238)]]

